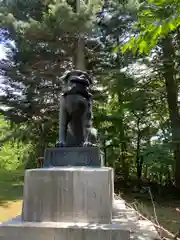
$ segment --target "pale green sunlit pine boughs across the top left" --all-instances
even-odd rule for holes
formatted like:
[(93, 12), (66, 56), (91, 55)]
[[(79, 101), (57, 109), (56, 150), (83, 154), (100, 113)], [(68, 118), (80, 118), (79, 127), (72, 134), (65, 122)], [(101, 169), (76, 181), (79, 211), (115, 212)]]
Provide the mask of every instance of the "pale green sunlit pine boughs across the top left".
[[(0, 14), (1, 27), (11, 27), (21, 35), (46, 40), (53, 35), (86, 33), (92, 29), (95, 13), (102, 4), (99, 0), (88, 1), (81, 4), (77, 13), (64, 0), (32, 1), (31, 4), (28, 1), (22, 3), (21, 0), (4, 1)], [(25, 9), (27, 15), (21, 14), (20, 9)]]

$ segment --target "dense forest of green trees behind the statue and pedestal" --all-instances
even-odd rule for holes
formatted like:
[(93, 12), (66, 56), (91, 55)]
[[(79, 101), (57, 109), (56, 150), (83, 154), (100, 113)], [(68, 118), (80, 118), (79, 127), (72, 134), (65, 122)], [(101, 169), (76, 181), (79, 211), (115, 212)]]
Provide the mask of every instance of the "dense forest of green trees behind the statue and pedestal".
[[(178, 0), (2, 0), (0, 168), (35, 167), (58, 138), (61, 76), (84, 37), (94, 125), (121, 186), (180, 187)], [(123, 183), (123, 184), (122, 184)], [(170, 190), (167, 190), (170, 189)], [(157, 191), (158, 190), (158, 191)]]

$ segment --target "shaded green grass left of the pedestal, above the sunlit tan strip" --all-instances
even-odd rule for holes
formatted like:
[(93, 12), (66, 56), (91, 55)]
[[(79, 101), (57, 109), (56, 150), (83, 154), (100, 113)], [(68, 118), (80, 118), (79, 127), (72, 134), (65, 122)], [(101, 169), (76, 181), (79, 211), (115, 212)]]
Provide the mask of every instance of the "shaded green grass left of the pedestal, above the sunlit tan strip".
[(8, 207), (9, 201), (22, 199), (23, 171), (0, 170), (0, 206)]

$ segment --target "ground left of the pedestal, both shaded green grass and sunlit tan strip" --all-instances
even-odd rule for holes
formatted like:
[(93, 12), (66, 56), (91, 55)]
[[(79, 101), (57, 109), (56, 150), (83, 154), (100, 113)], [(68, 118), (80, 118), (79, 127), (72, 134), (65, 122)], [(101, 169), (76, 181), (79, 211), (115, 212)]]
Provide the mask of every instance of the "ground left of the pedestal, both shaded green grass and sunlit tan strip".
[(21, 213), (23, 175), (22, 171), (0, 170), (0, 222)]

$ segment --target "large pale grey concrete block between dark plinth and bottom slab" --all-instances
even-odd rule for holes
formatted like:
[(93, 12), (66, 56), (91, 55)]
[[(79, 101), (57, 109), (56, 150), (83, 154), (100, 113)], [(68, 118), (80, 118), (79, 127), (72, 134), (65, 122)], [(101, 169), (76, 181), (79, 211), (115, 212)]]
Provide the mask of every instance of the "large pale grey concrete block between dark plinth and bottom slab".
[(110, 223), (113, 193), (112, 168), (27, 170), (23, 220)]

